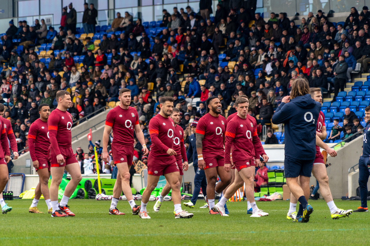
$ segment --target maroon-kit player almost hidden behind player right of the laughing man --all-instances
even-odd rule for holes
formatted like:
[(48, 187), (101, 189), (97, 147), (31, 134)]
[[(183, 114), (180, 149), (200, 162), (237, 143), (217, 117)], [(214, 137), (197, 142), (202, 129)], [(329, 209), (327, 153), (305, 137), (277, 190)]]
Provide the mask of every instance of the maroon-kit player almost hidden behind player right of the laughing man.
[[(239, 97), (242, 97), (242, 98), (246, 98), (246, 99), (248, 99), (248, 96), (246, 96), (246, 95), (240, 95), (240, 96), (238, 96), (238, 98)], [(248, 102), (249, 102), (249, 100), (248, 100)], [(236, 108), (236, 107), (235, 107)], [(237, 110), (237, 109), (236, 109)], [(232, 115), (229, 115), (228, 116), (228, 119), (227, 119), (227, 121), (228, 121), (228, 123), (232, 120), (232, 119), (234, 119), (234, 117), (236, 116), (236, 115), (238, 115), (238, 112), (235, 112), (235, 113), (233, 113)], [(248, 117), (248, 116), (247, 116)], [(257, 145), (254, 145), (254, 147), (256, 148), (256, 146)], [(231, 150), (232, 150), (232, 148), (231, 148)], [(256, 151), (254, 150), (254, 153), (256, 153)], [(252, 162), (252, 163), (250, 163), (251, 165), (256, 165), (256, 166), (258, 166), (259, 165), (259, 162), (260, 162), (260, 160), (259, 160), (259, 154), (254, 154), (253, 155), (253, 157), (254, 157), (254, 160), (255, 160), (255, 163), (254, 162)], [(230, 162), (231, 162), (231, 169), (233, 169), (233, 170), (231, 170), (231, 174), (232, 174), (232, 178), (231, 178), (231, 183), (229, 184), (229, 186), (228, 187), (226, 187), (226, 189), (224, 189), (223, 190), (223, 194), (225, 194), (225, 192), (226, 192), (226, 190), (230, 187), (230, 185), (235, 185), (235, 187), (238, 187), (238, 188), (240, 188), (240, 187), (243, 187), (244, 186), (244, 184), (245, 184), (245, 182), (243, 181), (243, 179), (242, 178), (239, 178), (238, 179), (238, 181), (239, 182), (235, 182), (234, 183), (234, 181), (235, 181), (235, 174), (236, 173), (238, 173), (238, 172), (235, 172), (235, 165), (233, 164), (233, 161), (232, 161), (232, 155), (231, 155), (231, 153), (230, 153)], [(239, 177), (240, 177), (240, 175), (239, 175)], [(253, 186), (253, 183), (251, 184), (251, 187), (252, 187), (252, 189), (254, 189), (254, 186)], [(244, 191), (245, 192), (245, 191)], [(254, 198), (253, 198), (253, 200), (252, 201), (254, 201)], [(228, 209), (226, 208), (226, 203), (225, 203), (225, 213), (226, 214), (228, 214)], [(248, 197), (247, 197), (247, 214), (252, 214), (253, 213), (253, 209), (252, 209), (252, 206), (250, 205), (250, 202), (249, 202), (249, 199), (248, 199)]]

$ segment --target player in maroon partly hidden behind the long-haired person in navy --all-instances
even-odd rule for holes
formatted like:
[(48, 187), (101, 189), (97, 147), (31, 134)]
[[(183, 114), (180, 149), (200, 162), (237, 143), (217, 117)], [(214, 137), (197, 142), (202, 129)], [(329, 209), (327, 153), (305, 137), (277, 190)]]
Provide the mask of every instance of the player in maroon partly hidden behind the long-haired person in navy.
[[(320, 88), (310, 88), (310, 94), (313, 100), (322, 103), (322, 94)], [(352, 210), (343, 210), (337, 208), (337, 206), (334, 204), (332, 192), (330, 191), (329, 187), (329, 178), (327, 177), (324, 157), (320, 152), (320, 147), (326, 150), (326, 152), (332, 157), (336, 157), (337, 152), (323, 142), (323, 140), (326, 139), (326, 134), (325, 116), (324, 113), (320, 111), (316, 126), (316, 157), (313, 161), (312, 174), (319, 182), (321, 195), (323, 196), (327, 206), (329, 207), (332, 218), (339, 219), (349, 216), (352, 213)], [(294, 220), (296, 218), (296, 206), (297, 199), (292, 194), (290, 194), (289, 212), (286, 215), (287, 219)]]

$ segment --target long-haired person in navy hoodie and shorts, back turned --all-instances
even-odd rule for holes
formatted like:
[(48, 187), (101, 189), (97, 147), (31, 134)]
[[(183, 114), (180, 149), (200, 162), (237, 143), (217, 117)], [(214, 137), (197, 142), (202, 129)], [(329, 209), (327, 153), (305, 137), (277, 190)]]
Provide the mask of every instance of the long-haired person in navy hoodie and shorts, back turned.
[(282, 99), (272, 116), (272, 123), (285, 124), (284, 173), (290, 191), (299, 201), (299, 211), (293, 222), (308, 222), (313, 212), (307, 200), (316, 156), (316, 124), (321, 104), (311, 98), (307, 79), (295, 79), (291, 88), (290, 96)]

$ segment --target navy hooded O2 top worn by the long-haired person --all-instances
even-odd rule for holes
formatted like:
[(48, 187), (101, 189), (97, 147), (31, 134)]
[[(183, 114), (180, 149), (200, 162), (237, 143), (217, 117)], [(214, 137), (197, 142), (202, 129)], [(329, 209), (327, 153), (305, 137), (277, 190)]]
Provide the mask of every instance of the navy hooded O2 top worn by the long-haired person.
[(285, 124), (285, 156), (297, 160), (314, 160), (316, 155), (316, 124), (321, 104), (310, 94), (297, 96), (289, 103), (280, 103), (272, 123)]

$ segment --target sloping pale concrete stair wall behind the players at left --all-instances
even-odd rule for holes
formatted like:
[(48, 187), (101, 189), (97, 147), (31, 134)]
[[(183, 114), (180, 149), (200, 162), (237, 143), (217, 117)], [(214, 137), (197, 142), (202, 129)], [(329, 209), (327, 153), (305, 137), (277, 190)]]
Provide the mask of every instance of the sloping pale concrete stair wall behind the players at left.
[[(87, 134), (89, 133), (89, 129), (92, 131), (92, 140), (102, 140), (103, 131), (104, 131), (104, 120), (108, 114), (109, 110), (105, 110), (101, 112), (99, 115), (96, 115), (87, 121), (78, 124), (77, 126), (72, 128), (72, 149), (75, 151), (77, 146), (81, 146), (81, 148), (85, 151), (88, 149), (89, 141), (87, 140)], [(99, 123), (100, 122), (100, 123)], [(97, 126), (94, 127), (95, 124), (99, 123)], [(26, 167), (26, 163), (30, 162), (30, 167)], [(21, 172), (25, 174), (36, 174), (35, 168), (32, 166), (31, 156), (30, 153), (27, 152), (21, 155), (17, 160), (13, 160), (13, 172)]]

